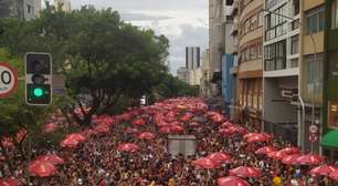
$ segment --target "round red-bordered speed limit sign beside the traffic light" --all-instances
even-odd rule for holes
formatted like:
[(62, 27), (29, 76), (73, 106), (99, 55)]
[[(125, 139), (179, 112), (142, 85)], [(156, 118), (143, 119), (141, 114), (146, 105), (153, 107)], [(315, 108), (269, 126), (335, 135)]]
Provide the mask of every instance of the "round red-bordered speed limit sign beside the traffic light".
[(6, 62), (0, 62), (0, 97), (9, 97), (17, 87), (17, 70)]

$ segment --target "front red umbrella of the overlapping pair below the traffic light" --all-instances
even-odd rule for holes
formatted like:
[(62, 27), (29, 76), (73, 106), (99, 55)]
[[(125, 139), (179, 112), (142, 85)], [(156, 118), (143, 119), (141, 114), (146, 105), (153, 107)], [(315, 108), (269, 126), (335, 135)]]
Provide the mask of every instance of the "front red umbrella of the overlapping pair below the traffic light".
[(29, 166), (32, 176), (49, 177), (56, 174), (56, 167), (47, 162), (34, 161)]

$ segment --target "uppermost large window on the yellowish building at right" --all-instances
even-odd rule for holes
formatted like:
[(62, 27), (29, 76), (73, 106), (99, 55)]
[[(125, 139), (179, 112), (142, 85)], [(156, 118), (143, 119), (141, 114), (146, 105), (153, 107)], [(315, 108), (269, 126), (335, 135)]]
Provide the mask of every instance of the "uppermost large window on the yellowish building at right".
[(305, 14), (306, 34), (315, 34), (324, 30), (325, 13), (324, 7), (309, 10)]

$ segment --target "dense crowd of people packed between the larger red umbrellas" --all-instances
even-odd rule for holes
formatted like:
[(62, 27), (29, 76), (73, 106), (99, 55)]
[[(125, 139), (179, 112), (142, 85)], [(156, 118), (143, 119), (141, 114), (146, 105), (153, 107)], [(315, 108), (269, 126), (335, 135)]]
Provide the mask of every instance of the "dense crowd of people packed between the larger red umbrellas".
[[(310, 166), (288, 166), (255, 154), (255, 149), (265, 145), (278, 149), (291, 146), (277, 136), (270, 142), (249, 144), (242, 134), (220, 135), (220, 125), (228, 118), (221, 114), (218, 114), (220, 118), (215, 118), (209, 112), (199, 99), (169, 100), (129, 110), (110, 117), (109, 132), (86, 135), (86, 141), (75, 147), (39, 147), (32, 152), (32, 159), (47, 154), (62, 157), (65, 163), (57, 166), (57, 173), (46, 177), (31, 176), (31, 183), (28, 183), (24, 174), (27, 163), (14, 162), (15, 170), (10, 173), (2, 162), (0, 177), (13, 177), (21, 185), (34, 186), (214, 186), (218, 178), (229, 176), (230, 169), (251, 166), (262, 170), (260, 177), (243, 178), (253, 186), (335, 185), (327, 176), (308, 176)], [(135, 124), (135, 120), (142, 120), (144, 123)], [(163, 123), (176, 123), (183, 131), (161, 133), (159, 125)], [(247, 130), (254, 132), (254, 128)], [(156, 137), (151, 141), (140, 140), (136, 137), (140, 132), (150, 132)], [(170, 134), (193, 135), (197, 144), (194, 155), (170, 154)], [(117, 151), (123, 143), (137, 144), (140, 148), (136, 152)], [(193, 165), (193, 161), (215, 152), (229, 154), (231, 162), (216, 168)]]

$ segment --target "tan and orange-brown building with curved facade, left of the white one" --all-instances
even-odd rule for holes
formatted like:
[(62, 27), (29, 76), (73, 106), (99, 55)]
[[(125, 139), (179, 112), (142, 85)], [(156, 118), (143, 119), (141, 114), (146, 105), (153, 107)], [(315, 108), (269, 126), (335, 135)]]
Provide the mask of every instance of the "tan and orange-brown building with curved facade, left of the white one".
[(263, 111), (263, 0), (239, 1), (239, 66), (236, 115), (261, 130)]

